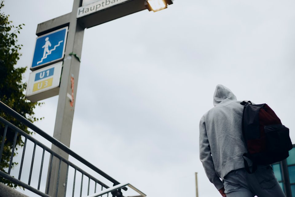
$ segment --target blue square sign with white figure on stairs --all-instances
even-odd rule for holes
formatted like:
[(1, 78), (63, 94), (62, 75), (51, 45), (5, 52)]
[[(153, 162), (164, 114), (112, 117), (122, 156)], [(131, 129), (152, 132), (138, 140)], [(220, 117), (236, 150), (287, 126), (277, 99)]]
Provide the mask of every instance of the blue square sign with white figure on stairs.
[(31, 70), (62, 61), (65, 53), (67, 32), (68, 27), (64, 27), (36, 38)]

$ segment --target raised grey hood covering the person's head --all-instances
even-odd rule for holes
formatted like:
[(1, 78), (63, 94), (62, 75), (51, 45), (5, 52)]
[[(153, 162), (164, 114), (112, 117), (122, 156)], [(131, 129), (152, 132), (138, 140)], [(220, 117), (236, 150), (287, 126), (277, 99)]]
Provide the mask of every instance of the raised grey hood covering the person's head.
[(213, 105), (216, 106), (231, 100), (237, 100), (237, 97), (232, 91), (225, 86), (218, 84), (213, 95)]

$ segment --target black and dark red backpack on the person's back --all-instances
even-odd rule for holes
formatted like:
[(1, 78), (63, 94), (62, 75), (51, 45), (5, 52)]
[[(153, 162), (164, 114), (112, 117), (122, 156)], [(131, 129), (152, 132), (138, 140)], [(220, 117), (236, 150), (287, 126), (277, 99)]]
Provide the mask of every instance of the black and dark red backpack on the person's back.
[[(286, 159), (293, 148), (289, 128), (282, 125), (267, 104), (252, 104), (245, 100), (241, 104), (244, 105), (242, 133), (248, 150), (243, 155), (246, 171), (254, 173), (257, 165), (269, 165)], [(252, 172), (245, 157), (253, 162)]]

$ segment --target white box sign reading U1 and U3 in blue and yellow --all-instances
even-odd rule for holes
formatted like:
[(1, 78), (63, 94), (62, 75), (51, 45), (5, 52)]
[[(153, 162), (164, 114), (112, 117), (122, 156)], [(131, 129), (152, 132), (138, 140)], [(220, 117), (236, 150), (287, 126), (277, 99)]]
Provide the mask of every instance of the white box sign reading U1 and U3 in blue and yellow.
[(26, 98), (32, 102), (58, 95), (62, 62), (30, 73)]

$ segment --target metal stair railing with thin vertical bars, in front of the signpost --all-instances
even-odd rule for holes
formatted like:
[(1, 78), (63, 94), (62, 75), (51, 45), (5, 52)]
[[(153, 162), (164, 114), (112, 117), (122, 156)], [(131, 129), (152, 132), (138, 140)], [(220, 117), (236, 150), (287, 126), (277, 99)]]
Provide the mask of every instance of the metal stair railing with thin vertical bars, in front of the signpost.
[[(18, 114), (17, 112), (15, 112), (13, 109), (9, 108), (7, 105), (5, 105), (4, 103), (2, 103), (0, 101), (0, 109), (2, 109), (4, 112), (6, 112), (6, 114), (14, 117), (16, 120), (18, 120), (19, 122), (21, 122), (22, 124), (26, 125), (28, 128), (32, 129), (32, 131), (36, 132), (37, 134), (39, 134), (40, 136), (44, 137), (46, 140), (48, 140), (49, 142), (51, 142), (52, 144), (54, 144), (55, 146), (57, 146), (58, 148), (60, 148), (61, 150), (63, 150), (64, 152), (68, 153), (70, 156), (72, 156), (73, 158), (75, 158), (76, 160), (78, 160), (79, 162), (81, 162), (82, 164), (84, 164), (85, 166), (87, 166), (88, 168), (92, 169), (94, 172), (97, 173), (97, 175), (99, 177), (102, 177), (104, 179), (104, 182), (107, 181), (108, 184), (103, 183), (102, 181), (100, 181), (99, 179), (95, 178), (94, 176), (92, 176), (90, 173), (87, 173), (86, 171), (82, 170), (80, 167), (78, 167), (77, 165), (73, 164), (72, 162), (70, 162), (69, 160), (65, 159), (64, 157), (62, 157), (61, 155), (57, 154), (56, 152), (52, 151), (50, 148), (48, 148), (47, 146), (45, 146), (44, 144), (42, 144), (40, 141), (36, 140), (35, 138), (33, 138), (32, 136), (30, 136), (29, 134), (27, 134), (26, 132), (22, 131), (20, 128), (16, 127), (15, 125), (11, 124), (10, 122), (8, 122), (7, 120), (5, 120), (4, 118), (2, 118), (0, 116), (0, 122), (2, 122), (2, 124), (5, 125), (4, 128), (4, 132), (3, 132), (3, 136), (1, 138), (1, 147), (0, 147), (0, 163), (1, 163), (1, 158), (2, 158), (2, 153), (3, 153), (3, 148), (5, 145), (5, 139), (6, 136), (8, 134), (8, 132), (14, 132), (14, 140), (13, 140), (13, 145), (12, 145), (12, 149), (11, 149), (11, 156), (10, 156), (10, 161), (9, 161), (9, 167), (7, 169), (7, 172), (1, 171), (0, 170), (0, 176), (2, 176), (3, 178), (11, 181), (12, 183), (16, 183), (19, 186), (26, 188), (34, 193), (36, 193), (37, 195), (40, 195), (42, 197), (50, 197), (48, 195), (49, 193), (49, 184), (50, 184), (50, 178), (51, 178), (51, 171), (52, 171), (52, 163), (53, 163), (53, 157), (55, 157), (57, 160), (59, 160), (59, 169), (57, 172), (57, 183), (56, 183), (56, 191), (55, 191), (55, 197), (57, 197), (57, 193), (58, 193), (58, 187), (59, 187), (59, 181), (60, 181), (60, 173), (61, 173), (61, 164), (65, 164), (67, 166), (67, 171), (66, 171), (66, 178), (63, 186), (65, 188), (64, 189), (64, 197), (66, 196), (82, 196), (82, 190), (83, 188), (85, 188), (85, 178), (88, 178), (88, 184), (86, 182), (87, 185), (87, 196), (89, 196), (89, 194), (94, 193), (93, 195), (90, 195), (91, 197), (94, 196), (109, 196), (109, 193), (114, 197), (123, 197), (123, 194), (121, 192), (121, 189), (127, 191), (127, 187), (132, 188), (132, 190), (136, 191), (138, 194), (140, 195), (136, 195), (136, 196), (146, 196), (144, 193), (142, 193), (141, 191), (139, 191), (138, 189), (136, 189), (135, 187), (133, 187), (132, 185), (130, 185), (129, 183), (127, 184), (120, 184), (117, 180), (113, 179), (111, 176), (109, 176), (108, 174), (106, 174), (105, 172), (101, 171), (100, 169), (98, 169), (97, 167), (95, 167), (93, 164), (89, 163), (87, 160), (83, 159), (81, 156), (77, 155), (75, 152), (73, 152), (71, 149), (69, 149), (67, 146), (65, 146), (64, 144), (62, 144), (61, 142), (59, 142), (58, 140), (56, 140), (55, 138), (49, 136), (47, 133), (45, 133), (44, 131), (42, 131), (40, 128), (38, 128), (37, 126), (35, 126), (34, 124), (32, 124), (29, 120), (27, 120), (26, 118), (24, 118), (23, 116), (21, 116), (20, 114)], [(15, 178), (14, 176), (10, 175), (11, 173), (11, 169), (13, 168), (13, 160), (15, 157), (15, 149), (16, 149), (16, 141), (18, 137), (22, 137), (23, 140), (23, 151), (22, 151), (22, 158), (21, 158), (21, 162), (20, 162), (20, 166), (19, 166), (19, 172), (18, 172), (18, 178)], [(31, 154), (31, 162), (30, 162), (30, 168), (29, 168), (29, 179), (27, 182), (24, 182), (21, 180), (22, 177), (22, 172), (23, 172), (23, 165), (24, 165), (24, 159), (25, 159), (25, 155), (28, 155), (26, 152), (26, 148), (27, 148), (27, 144), (28, 141), (33, 143), (33, 152)], [(36, 156), (36, 148), (41, 148), (42, 150), (42, 157), (41, 157), (41, 164), (40, 164), (40, 168), (39, 169), (39, 175), (38, 177), (34, 176), (32, 177), (32, 173), (33, 173), (33, 167), (34, 167), (34, 161), (36, 160), (35, 156)], [(46, 189), (45, 191), (41, 191), (40, 187), (41, 187), (41, 178), (42, 176), (44, 177), (45, 175), (43, 175), (44, 173), (42, 173), (42, 171), (44, 172), (44, 157), (45, 157), (45, 153), (50, 155), (50, 162), (49, 162), (49, 173), (47, 175), (46, 178)], [(41, 155), (40, 155), (41, 156)], [(40, 157), (39, 157), (40, 158)], [(36, 168), (36, 167), (35, 167)], [(46, 168), (45, 168), (46, 169)], [(72, 171), (73, 174), (73, 179), (69, 179), (69, 171)], [(80, 192), (77, 192), (77, 173), (81, 174), (81, 186), (80, 186)], [(37, 178), (37, 187), (33, 187), (31, 185), (31, 181), (32, 178)], [(84, 178), (84, 181), (83, 181)], [(69, 194), (69, 181), (72, 181), (73, 183), (71, 184), (73, 187), (71, 193)], [(92, 183), (92, 184), (90, 184)], [(92, 191), (90, 191), (90, 185), (92, 185)], [(109, 185), (111, 185), (112, 187), (110, 187)], [(83, 187), (84, 186), (84, 187)], [(98, 187), (97, 187), (98, 186)], [(76, 191), (75, 191), (76, 189)], [(99, 191), (100, 190), (100, 191)], [(99, 191), (99, 192), (98, 192)], [(68, 194), (67, 194), (68, 192)], [(98, 193), (97, 193), (98, 192)], [(78, 194), (77, 194), (78, 193)], [(89, 197), (90, 197), (89, 196)], [(58, 196), (60, 197), (60, 196)]]

